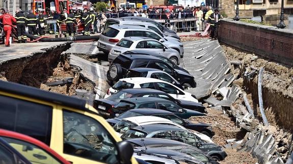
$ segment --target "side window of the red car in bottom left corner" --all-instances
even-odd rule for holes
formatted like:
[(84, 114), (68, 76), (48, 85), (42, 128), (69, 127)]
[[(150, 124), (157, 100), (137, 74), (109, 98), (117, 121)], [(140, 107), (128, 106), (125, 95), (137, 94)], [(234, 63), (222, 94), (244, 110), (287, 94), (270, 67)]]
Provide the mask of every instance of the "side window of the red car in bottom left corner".
[(61, 163), (54, 156), (36, 145), (7, 137), (2, 137), (2, 139), (32, 163)]

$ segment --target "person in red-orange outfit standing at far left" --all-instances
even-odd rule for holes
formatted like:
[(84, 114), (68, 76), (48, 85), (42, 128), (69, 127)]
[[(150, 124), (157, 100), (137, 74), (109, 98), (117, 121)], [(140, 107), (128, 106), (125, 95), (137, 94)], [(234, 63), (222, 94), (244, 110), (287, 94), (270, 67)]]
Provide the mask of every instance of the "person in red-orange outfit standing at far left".
[(6, 38), (5, 46), (9, 47), (9, 38), (11, 35), (12, 23), (16, 23), (16, 19), (12, 15), (10, 15), (9, 12), (5, 9), (2, 9), (2, 14), (3, 15), (0, 16), (0, 20), (2, 20), (3, 30)]

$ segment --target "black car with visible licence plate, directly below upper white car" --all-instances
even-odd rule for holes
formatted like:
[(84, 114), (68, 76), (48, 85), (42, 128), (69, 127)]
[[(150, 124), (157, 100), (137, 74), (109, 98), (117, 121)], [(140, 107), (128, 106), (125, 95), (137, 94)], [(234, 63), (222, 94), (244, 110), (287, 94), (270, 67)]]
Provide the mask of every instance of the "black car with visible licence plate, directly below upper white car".
[(196, 102), (185, 101), (185, 100), (176, 100), (168, 93), (165, 93), (156, 89), (148, 89), (148, 88), (136, 88), (136, 89), (123, 89), (106, 99), (98, 99), (94, 100), (94, 108), (97, 109), (100, 114), (104, 117), (109, 117), (112, 112), (112, 108), (120, 102), (120, 100), (134, 98), (134, 97), (158, 97), (162, 99), (169, 100), (178, 106), (186, 109), (195, 110), (198, 112), (206, 112), (206, 109), (203, 105)]

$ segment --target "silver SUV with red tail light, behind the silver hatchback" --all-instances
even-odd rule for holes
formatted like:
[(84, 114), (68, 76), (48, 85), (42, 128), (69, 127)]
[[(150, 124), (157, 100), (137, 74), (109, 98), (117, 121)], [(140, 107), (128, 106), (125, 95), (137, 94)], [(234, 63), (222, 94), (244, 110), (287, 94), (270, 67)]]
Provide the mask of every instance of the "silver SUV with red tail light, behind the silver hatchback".
[(158, 35), (155, 31), (141, 26), (129, 25), (110, 25), (100, 35), (97, 47), (104, 53), (108, 54), (111, 49), (125, 37), (147, 37), (168, 45), (168, 47), (179, 52), (180, 57), (183, 57), (183, 44), (176, 40), (167, 40)]

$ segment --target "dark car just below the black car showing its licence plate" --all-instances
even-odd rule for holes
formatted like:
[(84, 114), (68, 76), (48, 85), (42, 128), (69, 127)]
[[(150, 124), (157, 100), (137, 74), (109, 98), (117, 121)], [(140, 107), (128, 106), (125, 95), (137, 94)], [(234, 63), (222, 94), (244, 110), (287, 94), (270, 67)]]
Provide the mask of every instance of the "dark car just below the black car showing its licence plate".
[(178, 106), (177, 104), (169, 100), (157, 97), (137, 97), (120, 100), (120, 102), (113, 107), (110, 113), (110, 118), (114, 118), (119, 114), (130, 109), (138, 108), (162, 109), (170, 111), (184, 119), (190, 118), (192, 116), (206, 116), (204, 113), (201, 112), (197, 112), (190, 109), (183, 109), (182, 107)]

